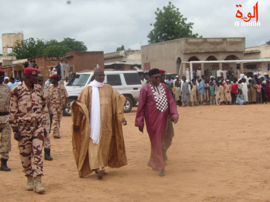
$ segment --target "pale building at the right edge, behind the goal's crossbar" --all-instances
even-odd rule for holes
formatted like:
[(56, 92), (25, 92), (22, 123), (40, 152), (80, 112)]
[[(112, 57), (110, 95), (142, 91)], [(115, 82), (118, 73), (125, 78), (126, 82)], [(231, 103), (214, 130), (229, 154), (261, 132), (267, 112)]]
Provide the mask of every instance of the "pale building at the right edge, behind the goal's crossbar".
[[(270, 45), (261, 45), (245, 48), (244, 59), (270, 59)], [(245, 63), (246, 72), (268, 72), (269, 62)]]

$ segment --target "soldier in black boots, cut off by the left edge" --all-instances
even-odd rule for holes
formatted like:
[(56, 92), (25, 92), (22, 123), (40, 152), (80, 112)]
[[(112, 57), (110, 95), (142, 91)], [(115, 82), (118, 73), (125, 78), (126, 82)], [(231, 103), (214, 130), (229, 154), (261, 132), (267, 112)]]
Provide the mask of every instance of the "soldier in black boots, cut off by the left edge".
[(8, 111), (10, 100), (10, 87), (3, 83), (5, 72), (0, 68), (0, 155), (1, 155), (1, 167), (2, 171), (10, 171), (7, 167), (7, 160), (9, 158), (8, 152), (11, 151), (11, 128), (8, 123)]

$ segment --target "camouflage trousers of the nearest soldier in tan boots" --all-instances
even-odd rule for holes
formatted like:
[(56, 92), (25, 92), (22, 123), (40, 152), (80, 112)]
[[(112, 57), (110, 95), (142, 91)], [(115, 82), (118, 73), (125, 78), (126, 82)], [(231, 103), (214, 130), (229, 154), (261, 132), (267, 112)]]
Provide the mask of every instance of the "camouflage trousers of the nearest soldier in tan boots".
[(18, 125), (22, 139), (18, 142), (20, 160), (25, 176), (43, 176), (43, 126)]

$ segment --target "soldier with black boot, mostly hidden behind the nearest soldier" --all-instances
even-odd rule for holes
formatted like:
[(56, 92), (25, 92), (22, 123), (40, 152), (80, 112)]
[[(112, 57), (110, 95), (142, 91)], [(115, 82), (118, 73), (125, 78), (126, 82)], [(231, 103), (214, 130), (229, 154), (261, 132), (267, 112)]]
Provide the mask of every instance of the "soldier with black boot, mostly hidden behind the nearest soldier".
[(47, 136), (44, 137), (44, 159), (45, 160), (52, 160), (51, 157), (51, 142), (50, 142), (50, 130), (51, 130), (51, 119), (52, 117), (52, 110), (51, 110), (51, 99), (50, 94), (47, 86), (43, 86), (44, 76), (41, 74), (38, 74), (38, 84), (43, 89), (43, 94), (46, 99), (46, 124), (44, 125), (44, 128), (47, 130)]

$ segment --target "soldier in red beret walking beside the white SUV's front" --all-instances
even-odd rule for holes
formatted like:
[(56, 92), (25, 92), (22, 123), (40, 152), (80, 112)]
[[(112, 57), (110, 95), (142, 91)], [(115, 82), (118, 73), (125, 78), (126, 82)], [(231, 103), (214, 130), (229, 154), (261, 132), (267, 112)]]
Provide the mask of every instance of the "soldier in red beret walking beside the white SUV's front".
[(65, 86), (58, 84), (58, 81), (58, 75), (52, 75), (51, 82), (53, 85), (49, 86), (49, 93), (51, 96), (51, 109), (53, 112), (52, 128), (54, 138), (61, 138), (59, 133), (60, 122), (63, 116), (63, 110), (67, 105), (67, 98), (69, 97)]

